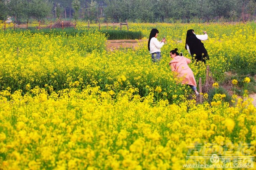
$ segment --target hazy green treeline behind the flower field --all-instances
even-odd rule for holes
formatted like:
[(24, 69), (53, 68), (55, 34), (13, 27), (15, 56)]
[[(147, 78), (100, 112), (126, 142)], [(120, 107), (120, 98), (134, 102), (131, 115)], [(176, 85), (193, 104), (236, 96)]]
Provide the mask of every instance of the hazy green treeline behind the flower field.
[(211, 22), (255, 18), (256, 0), (0, 0), (0, 20)]

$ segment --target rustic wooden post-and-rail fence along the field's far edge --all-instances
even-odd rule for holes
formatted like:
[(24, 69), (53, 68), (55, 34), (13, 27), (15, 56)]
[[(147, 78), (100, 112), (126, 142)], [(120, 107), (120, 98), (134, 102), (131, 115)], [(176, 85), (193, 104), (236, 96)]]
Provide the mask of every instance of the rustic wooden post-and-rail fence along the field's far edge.
[[(64, 21), (61, 21), (60, 24), (56, 24), (56, 23), (52, 24), (52, 21), (51, 21), (50, 24), (44, 24), (44, 23), (41, 23), (41, 20), (39, 21), (39, 23), (28, 22), (28, 20), (27, 20), (27, 22), (15, 22), (15, 21), (13, 21), (13, 22), (5, 22), (4, 21), (3, 23), (0, 23), (0, 24), (4, 24), (4, 28), (2, 28), (4, 30), (6, 30), (6, 29), (14, 29), (14, 30), (15, 29), (26, 29), (26, 30), (31, 30), (31, 29), (28, 28), (29, 24), (37, 25), (36, 27), (34, 26), (34, 28), (38, 29), (38, 30), (42, 29), (42, 27), (41, 27), (42, 25), (46, 25), (46, 27), (50, 28), (50, 30), (52, 28), (56, 28), (56, 27), (62, 28), (62, 30), (64, 28), (66, 28), (66, 27), (74, 27), (74, 28), (76, 28), (76, 26), (82, 26), (82, 27), (88, 27), (88, 28), (91, 27), (89, 21), (88, 21), (88, 25), (87, 26), (79, 25), (79, 24), (65, 24)], [(10, 24), (12, 24), (13, 27), (6, 27), (6, 25), (10, 26)], [(113, 30), (115, 29), (115, 26), (120, 26), (120, 30), (122, 30), (122, 26), (123, 25), (126, 25), (127, 31), (129, 31), (127, 20), (126, 20), (125, 23), (122, 23), (122, 22), (121, 23), (114, 23), (114, 22), (113, 23), (103, 23), (103, 24), (99, 23), (97, 26), (99, 27), (99, 30), (101, 29), (101, 27), (106, 27), (106, 29), (109, 29), (109, 27), (112, 27), (112, 26), (113, 26)]]

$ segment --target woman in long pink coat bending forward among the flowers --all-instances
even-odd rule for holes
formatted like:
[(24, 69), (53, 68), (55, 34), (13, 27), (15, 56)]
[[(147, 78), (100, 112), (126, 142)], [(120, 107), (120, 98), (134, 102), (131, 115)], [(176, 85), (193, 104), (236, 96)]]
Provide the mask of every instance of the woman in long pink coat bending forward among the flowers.
[(177, 48), (170, 51), (170, 56), (172, 60), (169, 65), (171, 66), (171, 70), (176, 72), (178, 78), (181, 79), (181, 84), (188, 84), (196, 93), (196, 96), (199, 96), (197, 91), (197, 83), (193, 71), (189, 68), (188, 64), (191, 62), (190, 59), (180, 56), (177, 52)]

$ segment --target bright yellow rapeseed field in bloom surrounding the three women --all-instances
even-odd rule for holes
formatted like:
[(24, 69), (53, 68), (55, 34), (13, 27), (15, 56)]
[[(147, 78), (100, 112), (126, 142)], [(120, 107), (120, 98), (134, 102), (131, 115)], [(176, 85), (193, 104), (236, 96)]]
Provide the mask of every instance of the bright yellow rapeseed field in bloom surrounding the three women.
[[(147, 41), (108, 51), (99, 31), (64, 36), (0, 31), (0, 169), (254, 169), (256, 24), (131, 23), (144, 39), (166, 36), (152, 63)], [(88, 29), (88, 28), (78, 28)], [(207, 61), (219, 88), (227, 71), (246, 72), (243, 96), (201, 94), (177, 84), (169, 51), (186, 31), (207, 30)], [(205, 83), (206, 66), (191, 63)], [(235, 88), (238, 81), (233, 79)]]

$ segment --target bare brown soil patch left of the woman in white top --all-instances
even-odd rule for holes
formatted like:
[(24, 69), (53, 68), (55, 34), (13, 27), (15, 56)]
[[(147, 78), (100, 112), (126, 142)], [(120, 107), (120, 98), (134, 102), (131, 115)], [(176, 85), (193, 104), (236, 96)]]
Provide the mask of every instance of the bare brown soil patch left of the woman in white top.
[(140, 42), (146, 41), (144, 39), (119, 39), (119, 40), (107, 40), (106, 47), (109, 51), (113, 51), (119, 48), (131, 48), (134, 50), (135, 47), (140, 46)]

